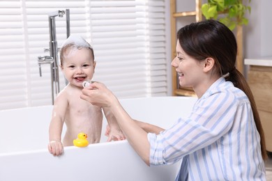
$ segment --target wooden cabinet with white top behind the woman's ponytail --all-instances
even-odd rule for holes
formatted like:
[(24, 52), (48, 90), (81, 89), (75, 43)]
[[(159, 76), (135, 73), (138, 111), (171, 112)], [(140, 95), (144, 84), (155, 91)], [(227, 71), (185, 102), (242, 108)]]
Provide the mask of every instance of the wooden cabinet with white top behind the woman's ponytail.
[(250, 65), (248, 84), (261, 118), (266, 150), (272, 152), (272, 57), (245, 59)]

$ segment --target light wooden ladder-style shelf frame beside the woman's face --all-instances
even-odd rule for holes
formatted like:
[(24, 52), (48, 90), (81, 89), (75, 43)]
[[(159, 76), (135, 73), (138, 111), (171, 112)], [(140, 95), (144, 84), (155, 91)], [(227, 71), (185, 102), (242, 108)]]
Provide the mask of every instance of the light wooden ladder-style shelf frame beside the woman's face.
[[(195, 10), (193, 11), (183, 11), (176, 12), (176, 1), (170, 1), (170, 13), (171, 13), (171, 54), (172, 59), (176, 56), (176, 19), (178, 17), (195, 17), (195, 22), (202, 21), (202, 0), (195, 0)], [(179, 81), (177, 79), (176, 70), (172, 68), (172, 89), (173, 95), (185, 95), (185, 96), (195, 96), (195, 92), (192, 88), (181, 88), (179, 86)]]

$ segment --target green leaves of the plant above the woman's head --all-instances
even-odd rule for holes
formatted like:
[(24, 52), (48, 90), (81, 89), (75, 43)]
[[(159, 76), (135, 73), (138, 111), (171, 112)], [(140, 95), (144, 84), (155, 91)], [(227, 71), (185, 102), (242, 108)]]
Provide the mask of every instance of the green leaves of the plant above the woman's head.
[[(249, 3), (251, 0), (248, 0)], [(208, 0), (202, 4), (202, 14), (206, 19), (218, 19), (234, 30), (236, 25), (247, 25), (245, 13), (250, 13), (250, 6), (243, 4), (243, 0)]]

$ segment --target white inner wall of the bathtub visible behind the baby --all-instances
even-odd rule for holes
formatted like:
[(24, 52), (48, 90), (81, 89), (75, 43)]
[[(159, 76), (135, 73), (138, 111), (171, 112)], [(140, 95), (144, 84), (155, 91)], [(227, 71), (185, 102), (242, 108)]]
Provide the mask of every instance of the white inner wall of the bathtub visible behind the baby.
[[(132, 118), (168, 128), (178, 118), (188, 116), (195, 98), (144, 97), (120, 101)], [(47, 148), (51, 112), (52, 105), (0, 111), (0, 154)], [(107, 140), (106, 125), (104, 119), (100, 142)]]

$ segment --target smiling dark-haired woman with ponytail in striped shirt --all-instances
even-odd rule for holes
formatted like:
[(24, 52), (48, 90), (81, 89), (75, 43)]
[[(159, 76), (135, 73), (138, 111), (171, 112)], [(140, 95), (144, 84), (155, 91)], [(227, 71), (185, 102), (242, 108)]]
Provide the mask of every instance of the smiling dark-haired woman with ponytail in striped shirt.
[(148, 165), (183, 159), (176, 180), (266, 180), (264, 133), (255, 101), (236, 70), (236, 39), (224, 24), (207, 20), (177, 33), (172, 66), (181, 86), (198, 100), (188, 118), (169, 129), (135, 121), (103, 84), (82, 91), (82, 99), (107, 107), (128, 142)]

